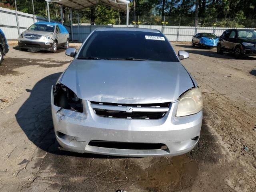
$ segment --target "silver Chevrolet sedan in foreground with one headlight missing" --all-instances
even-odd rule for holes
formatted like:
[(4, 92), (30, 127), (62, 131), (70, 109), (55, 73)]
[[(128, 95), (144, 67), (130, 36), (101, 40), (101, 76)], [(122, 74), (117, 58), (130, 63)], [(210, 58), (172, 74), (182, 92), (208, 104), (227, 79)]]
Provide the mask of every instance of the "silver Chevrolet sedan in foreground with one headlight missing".
[(198, 143), (200, 88), (158, 30), (94, 30), (52, 86), (60, 148), (115, 156), (177, 156)]

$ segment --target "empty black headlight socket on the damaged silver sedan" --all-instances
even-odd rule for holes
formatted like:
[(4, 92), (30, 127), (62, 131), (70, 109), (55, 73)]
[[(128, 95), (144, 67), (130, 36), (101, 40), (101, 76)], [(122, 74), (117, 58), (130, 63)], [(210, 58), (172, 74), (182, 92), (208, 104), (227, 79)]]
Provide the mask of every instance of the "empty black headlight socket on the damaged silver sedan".
[(53, 87), (54, 105), (76, 112), (83, 112), (82, 100), (68, 87), (56, 84)]

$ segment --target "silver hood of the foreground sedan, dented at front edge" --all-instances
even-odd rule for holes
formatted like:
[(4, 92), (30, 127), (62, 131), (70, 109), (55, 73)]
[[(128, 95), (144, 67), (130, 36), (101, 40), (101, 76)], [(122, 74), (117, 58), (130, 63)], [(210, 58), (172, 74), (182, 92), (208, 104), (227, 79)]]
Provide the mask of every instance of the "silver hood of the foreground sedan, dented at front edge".
[(172, 102), (194, 86), (180, 62), (77, 60), (59, 82), (78, 98), (95, 102)]

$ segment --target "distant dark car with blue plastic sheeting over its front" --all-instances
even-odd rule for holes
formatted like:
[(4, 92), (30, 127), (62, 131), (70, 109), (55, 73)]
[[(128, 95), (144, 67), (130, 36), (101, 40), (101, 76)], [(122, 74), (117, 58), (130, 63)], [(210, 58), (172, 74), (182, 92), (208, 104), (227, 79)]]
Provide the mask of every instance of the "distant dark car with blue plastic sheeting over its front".
[(200, 47), (216, 47), (218, 44), (218, 37), (213, 33), (198, 33), (192, 38), (192, 47), (198, 45)]

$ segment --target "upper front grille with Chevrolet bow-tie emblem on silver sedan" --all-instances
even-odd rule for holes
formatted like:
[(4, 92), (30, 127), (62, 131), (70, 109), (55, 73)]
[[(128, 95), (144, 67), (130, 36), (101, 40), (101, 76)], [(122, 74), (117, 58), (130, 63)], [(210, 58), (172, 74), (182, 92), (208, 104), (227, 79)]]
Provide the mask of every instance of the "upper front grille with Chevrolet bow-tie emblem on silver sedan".
[(115, 104), (91, 102), (94, 113), (106, 118), (160, 119), (169, 111), (170, 102), (158, 104)]

